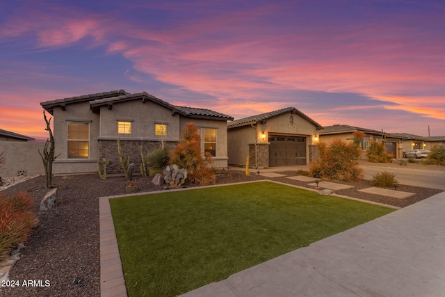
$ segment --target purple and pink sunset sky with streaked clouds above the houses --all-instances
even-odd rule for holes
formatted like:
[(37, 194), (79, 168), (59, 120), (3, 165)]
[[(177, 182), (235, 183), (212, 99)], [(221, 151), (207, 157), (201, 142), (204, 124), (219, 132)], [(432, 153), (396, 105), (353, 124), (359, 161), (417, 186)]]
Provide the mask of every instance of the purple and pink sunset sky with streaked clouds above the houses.
[(445, 136), (443, 0), (0, 0), (0, 129), (124, 89), (235, 119)]

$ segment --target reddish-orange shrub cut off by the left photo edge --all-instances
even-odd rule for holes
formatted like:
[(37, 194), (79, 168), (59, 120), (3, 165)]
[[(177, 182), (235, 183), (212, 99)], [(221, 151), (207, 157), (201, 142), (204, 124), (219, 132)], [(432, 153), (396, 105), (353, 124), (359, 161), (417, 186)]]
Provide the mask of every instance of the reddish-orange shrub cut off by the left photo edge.
[(25, 192), (0, 197), (0, 262), (9, 257), (13, 248), (25, 243), (37, 225), (33, 204), (33, 198)]

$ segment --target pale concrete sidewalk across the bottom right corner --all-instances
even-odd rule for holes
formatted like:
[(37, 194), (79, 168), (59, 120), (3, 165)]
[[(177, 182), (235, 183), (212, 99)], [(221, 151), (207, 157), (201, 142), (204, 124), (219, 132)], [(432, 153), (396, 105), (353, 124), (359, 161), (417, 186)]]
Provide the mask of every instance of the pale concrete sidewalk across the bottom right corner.
[(445, 192), (182, 295), (445, 296)]

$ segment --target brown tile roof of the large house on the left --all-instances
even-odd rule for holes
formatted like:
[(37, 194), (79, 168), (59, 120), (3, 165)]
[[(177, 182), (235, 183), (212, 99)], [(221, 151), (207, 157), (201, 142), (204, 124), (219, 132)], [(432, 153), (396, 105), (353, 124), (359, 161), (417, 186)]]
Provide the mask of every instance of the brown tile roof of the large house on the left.
[(49, 111), (49, 113), (53, 113), (54, 107), (56, 106), (65, 106), (65, 104), (72, 104), (77, 102), (86, 102), (90, 103), (90, 109), (92, 112), (99, 113), (100, 106), (113, 106), (115, 103), (122, 103), (126, 101), (131, 101), (135, 99), (141, 99), (143, 102), (152, 101), (165, 106), (166, 108), (172, 110), (174, 113), (180, 113), (181, 115), (191, 117), (191, 118), (212, 118), (218, 120), (233, 120), (230, 115), (225, 115), (223, 113), (218, 113), (216, 111), (211, 111), (210, 109), (197, 109), (194, 107), (186, 107), (186, 106), (176, 106), (165, 102), (153, 95), (148, 94), (147, 92), (143, 93), (127, 93), (125, 90), (112, 90), (110, 92), (104, 93), (96, 93), (90, 95), (76, 96), (64, 99), (51, 100), (47, 102), (42, 102), (40, 105)]

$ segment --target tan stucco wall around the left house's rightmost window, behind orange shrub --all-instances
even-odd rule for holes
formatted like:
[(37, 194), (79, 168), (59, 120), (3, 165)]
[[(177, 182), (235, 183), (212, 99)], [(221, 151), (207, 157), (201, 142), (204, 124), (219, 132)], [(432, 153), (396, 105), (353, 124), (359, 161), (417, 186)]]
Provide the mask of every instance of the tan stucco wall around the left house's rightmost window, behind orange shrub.
[(224, 120), (206, 120), (197, 118), (180, 118), (180, 131), (187, 127), (189, 122), (193, 122), (198, 128), (216, 129), (216, 156), (213, 159), (213, 168), (227, 168), (227, 122)]

